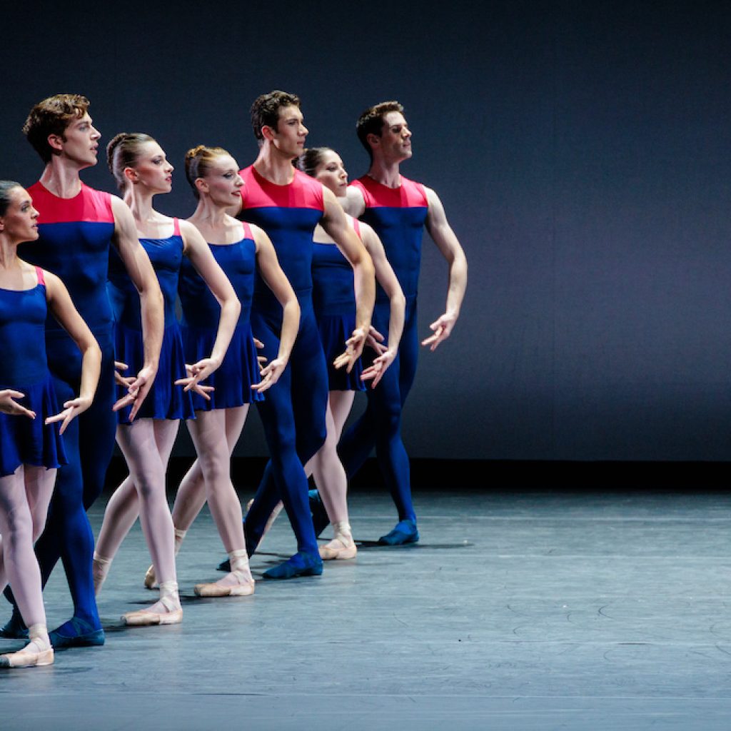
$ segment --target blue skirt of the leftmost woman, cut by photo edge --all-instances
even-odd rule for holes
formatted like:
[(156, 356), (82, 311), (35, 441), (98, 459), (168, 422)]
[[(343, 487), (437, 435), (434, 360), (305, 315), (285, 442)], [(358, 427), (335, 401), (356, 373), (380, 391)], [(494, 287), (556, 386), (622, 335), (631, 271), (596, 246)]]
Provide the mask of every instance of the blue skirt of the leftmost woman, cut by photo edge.
[(0, 385), (0, 390), (12, 388), (25, 394), (18, 404), (36, 412), (35, 419), (25, 416), (0, 414), (0, 477), (13, 474), (21, 464), (32, 464), (46, 469), (67, 464), (63, 437), (58, 433), (61, 424), (45, 425), (49, 416), (58, 414), (56, 393), (50, 374), (32, 385)]

